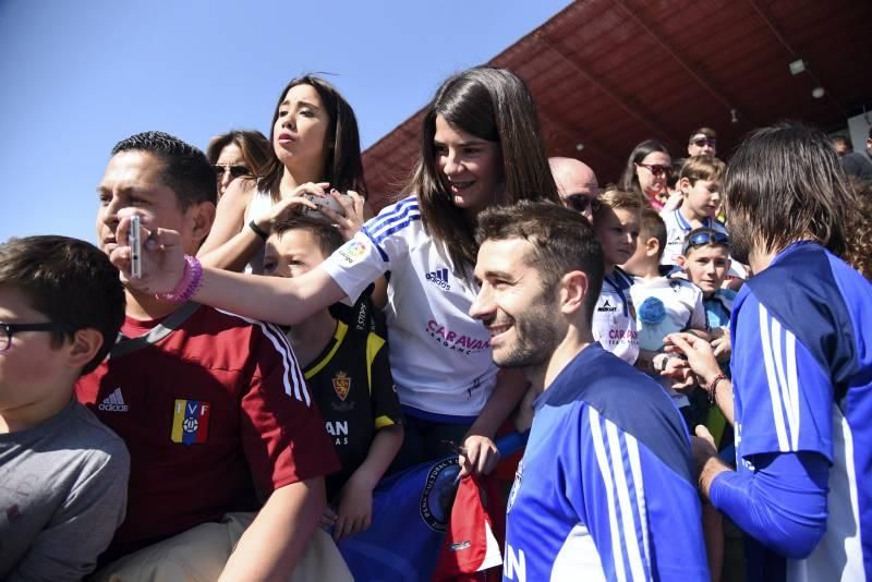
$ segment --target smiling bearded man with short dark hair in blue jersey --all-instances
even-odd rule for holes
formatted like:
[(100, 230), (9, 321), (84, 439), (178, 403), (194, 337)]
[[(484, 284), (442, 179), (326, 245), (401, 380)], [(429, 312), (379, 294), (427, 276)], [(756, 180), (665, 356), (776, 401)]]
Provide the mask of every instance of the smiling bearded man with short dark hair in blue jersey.
[(688, 434), (651, 378), (593, 341), (604, 258), (547, 203), (479, 215), (470, 314), (541, 387), (509, 497), (504, 580), (708, 580)]

